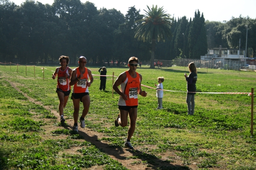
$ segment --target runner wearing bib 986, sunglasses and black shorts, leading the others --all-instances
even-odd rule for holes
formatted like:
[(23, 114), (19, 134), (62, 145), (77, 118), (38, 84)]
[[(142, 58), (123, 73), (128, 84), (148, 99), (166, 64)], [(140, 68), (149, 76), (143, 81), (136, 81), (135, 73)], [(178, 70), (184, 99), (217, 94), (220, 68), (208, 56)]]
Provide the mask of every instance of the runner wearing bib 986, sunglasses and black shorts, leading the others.
[[(135, 131), (138, 94), (144, 97), (147, 96), (147, 92), (141, 89), (142, 76), (136, 72), (138, 62), (138, 58), (131, 57), (128, 61), (129, 70), (121, 73), (113, 84), (114, 91), (120, 95), (118, 101), (119, 114), (115, 120), (115, 126), (127, 126), (128, 115), (130, 118), (128, 136), (125, 142), (125, 147), (129, 149), (134, 149), (130, 140)], [(120, 90), (119, 85), (121, 85)]]

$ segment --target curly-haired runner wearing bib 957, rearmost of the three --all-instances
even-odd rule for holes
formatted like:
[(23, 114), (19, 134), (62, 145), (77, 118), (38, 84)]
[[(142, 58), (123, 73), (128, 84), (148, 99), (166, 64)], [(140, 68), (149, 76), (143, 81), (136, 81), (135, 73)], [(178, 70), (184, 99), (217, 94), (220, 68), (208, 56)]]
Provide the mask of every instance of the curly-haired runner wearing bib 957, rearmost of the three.
[(61, 116), (61, 123), (65, 122), (63, 110), (67, 105), (67, 100), (70, 95), (71, 87), (69, 85), (70, 75), (72, 73), (72, 69), (67, 65), (69, 63), (69, 57), (61, 56), (59, 58), (61, 67), (57, 67), (55, 72), (52, 74), (52, 79), (58, 75), (57, 89), (56, 93), (59, 99), (59, 114)]

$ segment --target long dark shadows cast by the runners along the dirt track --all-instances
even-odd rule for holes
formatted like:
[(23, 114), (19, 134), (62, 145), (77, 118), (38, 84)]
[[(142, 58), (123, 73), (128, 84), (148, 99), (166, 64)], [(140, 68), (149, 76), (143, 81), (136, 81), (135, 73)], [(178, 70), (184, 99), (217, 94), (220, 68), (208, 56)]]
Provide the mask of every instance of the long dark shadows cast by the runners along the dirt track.
[[(72, 126), (63, 126), (66, 129), (73, 129)], [(137, 159), (141, 159), (143, 162), (145, 162), (145, 166), (150, 167), (151, 169), (158, 169), (158, 170), (189, 170), (189, 167), (187, 166), (181, 166), (177, 164), (171, 164), (169, 162), (163, 161), (155, 155), (151, 155), (148, 153), (141, 152), (140, 150), (131, 150), (131, 149), (124, 149), (118, 145), (114, 146), (109, 145), (107, 143), (103, 143), (98, 139), (97, 135), (89, 136), (87, 133), (79, 130), (77, 133), (84, 137), (84, 140), (87, 142), (91, 142), (95, 144), (96, 147), (103, 150), (106, 154), (109, 156), (113, 156), (116, 158), (117, 161), (119, 160), (126, 160), (126, 156), (121, 156), (124, 154), (124, 150), (130, 152), (133, 156), (136, 156)], [(120, 162), (120, 161), (119, 161)], [(125, 166), (125, 165), (123, 165)]]

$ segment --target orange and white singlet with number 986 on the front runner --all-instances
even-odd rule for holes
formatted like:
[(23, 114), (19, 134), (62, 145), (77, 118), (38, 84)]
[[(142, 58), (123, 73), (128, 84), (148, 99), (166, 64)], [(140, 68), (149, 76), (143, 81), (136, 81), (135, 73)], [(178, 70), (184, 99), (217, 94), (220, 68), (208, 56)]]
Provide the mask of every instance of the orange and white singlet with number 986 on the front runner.
[(132, 78), (128, 71), (125, 71), (126, 79), (121, 83), (120, 91), (128, 96), (128, 100), (119, 97), (118, 105), (120, 106), (137, 106), (138, 91), (140, 88), (140, 74), (136, 72), (137, 77)]

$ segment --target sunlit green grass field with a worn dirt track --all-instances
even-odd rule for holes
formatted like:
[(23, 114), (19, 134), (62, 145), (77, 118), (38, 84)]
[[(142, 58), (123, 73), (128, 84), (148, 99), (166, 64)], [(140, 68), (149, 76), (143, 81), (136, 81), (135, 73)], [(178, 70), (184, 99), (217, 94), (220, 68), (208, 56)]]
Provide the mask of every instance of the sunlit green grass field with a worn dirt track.
[[(0, 65), (0, 170), (255, 170), (256, 136), (250, 133), (251, 96), (196, 94), (194, 116), (186, 111), (188, 68), (138, 68), (146, 97), (139, 97), (135, 150), (123, 147), (128, 127), (115, 127), (119, 96), (112, 77), (99, 91), (99, 76), (89, 88), (86, 128), (72, 132), (73, 103), (59, 122), (56, 67)], [(75, 68), (75, 67), (71, 67)], [(89, 67), (92, 74), (99, 68)], [(127, 68), (108, 68), (118, 76)], [(163, 76), (163, 109), (156, 110), (154, 84)], [(244, 92), (256, 88), (256, 72), (198, 68), (198, 92)], [(172, 92), (182, 91), (182, 92)], [(254, 111), (256, 105), (254, 104)], [(80, 110), (81, 113), (81, 110)], [(254, 112), (255, 113), (255, 112)], [(254, 119), (254, 131), (255, 128)]]

